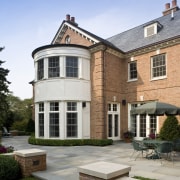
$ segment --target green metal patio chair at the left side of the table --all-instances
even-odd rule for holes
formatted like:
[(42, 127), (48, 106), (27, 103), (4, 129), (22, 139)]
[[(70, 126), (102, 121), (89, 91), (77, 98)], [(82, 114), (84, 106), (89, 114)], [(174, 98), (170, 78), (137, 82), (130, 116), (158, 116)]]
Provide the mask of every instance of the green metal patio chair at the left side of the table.
[(133, 140), (133, 141), (132, 141), (132, 146), (133, 146), (134, 151), (133, 151), (133, 153), (132, 153), (132, 155), (131, 155), (131, 158), (132, 158), (135, 154), (137, 154), (137, 155), (135, 156), (135, 159), (134, 159), (134, 160), (136, 160), (136, 159), (139, 157), (140, 154), (141, 154), (142, 157), (143, 157), (143, 152), (146, 152), (146, 155), (147, 155), (148, 147), (146, 147), (141, 141)]

